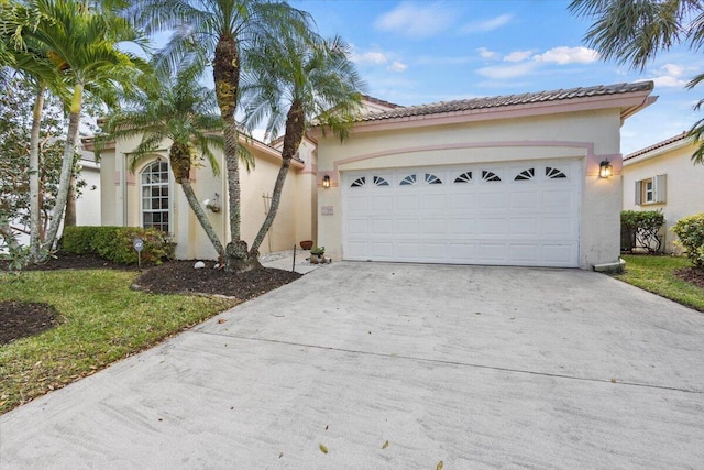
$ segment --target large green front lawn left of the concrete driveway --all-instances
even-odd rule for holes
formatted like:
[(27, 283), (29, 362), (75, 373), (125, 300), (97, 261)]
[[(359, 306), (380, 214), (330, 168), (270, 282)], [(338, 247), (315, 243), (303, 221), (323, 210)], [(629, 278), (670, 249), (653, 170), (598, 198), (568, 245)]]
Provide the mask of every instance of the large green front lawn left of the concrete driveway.
[(0, 300), (42, 302), (59, 325), (0, 346), (0, 414), (226, 310), (235, 300), (129, 288), (138, 273), (0, 273)]

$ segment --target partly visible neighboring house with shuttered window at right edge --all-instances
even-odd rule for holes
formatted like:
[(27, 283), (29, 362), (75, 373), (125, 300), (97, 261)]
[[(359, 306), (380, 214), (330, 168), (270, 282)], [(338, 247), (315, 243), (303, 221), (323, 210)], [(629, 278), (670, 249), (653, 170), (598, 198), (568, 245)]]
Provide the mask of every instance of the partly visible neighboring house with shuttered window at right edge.
[(668, 253), (679, 250), (672, 226), (704, 212), (704, 165), (692, 162), (695, 150), (683, 132), (624, 157), (624, 210), (662, 210)]

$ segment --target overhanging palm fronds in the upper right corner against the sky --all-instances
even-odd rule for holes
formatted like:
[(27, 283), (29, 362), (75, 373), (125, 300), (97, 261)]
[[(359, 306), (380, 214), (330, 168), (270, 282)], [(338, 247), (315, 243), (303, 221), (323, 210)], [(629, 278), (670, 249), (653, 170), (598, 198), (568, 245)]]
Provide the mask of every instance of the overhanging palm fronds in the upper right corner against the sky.
[[(640, 72), (658, 53), (675, 44), (686, 43), (691, 51), (704, 45), (704, 4), (700, 0), (573, 0), (569, 9), (594, 20), (585, 40), (604, 59), (613, 58)], [(686, 86), (692, 89), (702, 81), (704, 74)], [(694, 109), (702, 106), (704, 99)], [(694, 123), (690, 138), (698, 144), (692, 160), (704, 164), (704, 119)]]

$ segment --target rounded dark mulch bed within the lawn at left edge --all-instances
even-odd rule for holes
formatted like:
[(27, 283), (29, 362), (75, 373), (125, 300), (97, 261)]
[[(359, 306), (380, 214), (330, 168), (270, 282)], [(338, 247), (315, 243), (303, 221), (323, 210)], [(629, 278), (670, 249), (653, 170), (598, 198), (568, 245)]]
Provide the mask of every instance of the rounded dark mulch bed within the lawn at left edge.
[(36, 335), (56, 325), (56, 310), (47, 304), (0, 302), (0, 345)]

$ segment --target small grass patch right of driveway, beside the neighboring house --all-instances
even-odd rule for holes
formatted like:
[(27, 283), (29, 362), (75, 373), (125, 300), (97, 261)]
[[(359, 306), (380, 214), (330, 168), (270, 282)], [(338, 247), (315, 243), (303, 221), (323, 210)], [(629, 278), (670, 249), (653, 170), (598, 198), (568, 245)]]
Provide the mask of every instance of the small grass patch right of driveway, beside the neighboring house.
[(625, 255), (626, 271), (615, 275), (628, 284), (704, 311), (704, 288), (682, 281), (674, 272), (691, 267), (685, 258)]

